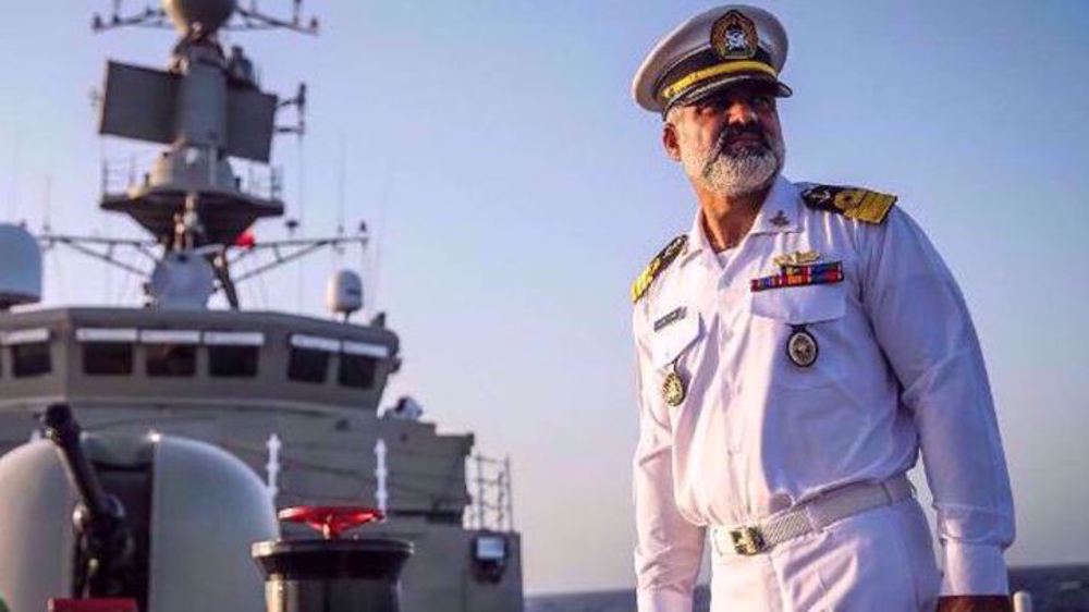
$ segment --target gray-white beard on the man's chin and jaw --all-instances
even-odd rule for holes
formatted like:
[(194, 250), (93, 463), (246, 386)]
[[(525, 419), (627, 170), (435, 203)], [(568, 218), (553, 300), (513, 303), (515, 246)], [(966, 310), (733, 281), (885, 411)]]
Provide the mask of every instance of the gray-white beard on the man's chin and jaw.
[[(726, 197), (741, 197), (766, 188), (779, 175), (783, 154), (770, 148), (742, 152), (722, 151), (714, 159), (682, 156), (685, 172), (699, 178), (711, 191)], [(713, 155), (713, 151), (712, 151)]]

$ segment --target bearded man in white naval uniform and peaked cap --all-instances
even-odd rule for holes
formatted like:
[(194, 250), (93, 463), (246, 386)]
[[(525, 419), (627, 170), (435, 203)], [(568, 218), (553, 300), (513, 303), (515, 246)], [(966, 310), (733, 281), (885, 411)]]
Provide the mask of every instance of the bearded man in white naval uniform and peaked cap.
[(786, 50), (773, 15), (721, 7), (633, 84), (697, 204), (632, 292), (639, 612), (692, 610), (705, 546), (713, 612), (1006, 610), (1013, 503), (964, 298), (895, 196), (782, 175)]

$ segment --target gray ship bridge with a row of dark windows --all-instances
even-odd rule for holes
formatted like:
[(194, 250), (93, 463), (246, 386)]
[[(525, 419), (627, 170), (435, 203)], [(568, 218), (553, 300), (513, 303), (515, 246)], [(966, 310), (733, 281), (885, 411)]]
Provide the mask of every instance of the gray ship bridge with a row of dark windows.
[(261, 311), (11, 313), (0, 346), (0, 409), (63, 399), (374, 413), (400, 364), (397, 336), (384, 328)]

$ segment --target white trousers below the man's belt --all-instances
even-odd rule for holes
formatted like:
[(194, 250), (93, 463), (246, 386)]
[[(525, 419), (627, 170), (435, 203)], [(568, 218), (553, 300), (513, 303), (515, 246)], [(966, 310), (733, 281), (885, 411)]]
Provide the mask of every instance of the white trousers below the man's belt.
[(711, 554), (711, 612), (932, 612), (941, 586), (914, 498), (763, 554)]

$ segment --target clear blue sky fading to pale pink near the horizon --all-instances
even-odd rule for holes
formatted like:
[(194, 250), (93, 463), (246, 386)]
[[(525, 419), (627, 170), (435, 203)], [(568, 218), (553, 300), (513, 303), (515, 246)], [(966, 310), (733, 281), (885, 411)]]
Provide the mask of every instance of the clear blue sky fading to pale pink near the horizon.
[[(440, 431), (512, 457), (528, 592), (633, 584), (628, 286), (695, 200), (628, 91), (654, 41), (711, 5), (311, 1), (319, 37), (231, 37), (266, 89), (309, 86), (307, 136), (274, 147), (289, 215), (305, 234), (366, 221), (372, 236), (365, 258), (243, 285), (244, 303), (325, 316), (325, 277), (365, 272), (402, 339), (386, 402), (411, 394)], [(1089, 4), (761, 5), (791, 37), (786, 175), (897, 194), (962, 284), (1017, 505), (1007, 559), (1089, 562)], [(162, 66), (174, 39), (94, 35), (95, 10), (109, 2), (20, 2), (0, 21), (0, 219), (138, 236), (97, 209), (103, 155), (134, 149), (97, 136), (91, 93), (106, 58)], [(136, 286), (46, 259), (47, 304), (134, 303)]]

